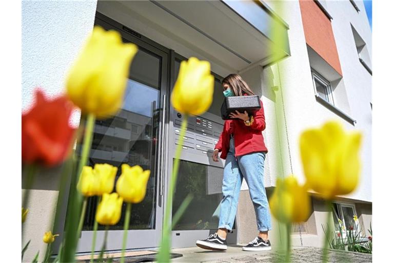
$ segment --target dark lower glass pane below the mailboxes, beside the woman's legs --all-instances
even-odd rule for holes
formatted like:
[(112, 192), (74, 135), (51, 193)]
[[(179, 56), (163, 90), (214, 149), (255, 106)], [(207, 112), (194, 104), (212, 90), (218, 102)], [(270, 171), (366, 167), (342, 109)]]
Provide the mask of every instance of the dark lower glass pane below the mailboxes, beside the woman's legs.
[(174, 230), (218, 228), (222, 179), (223, 168), (180, 161), (178, 182), (172, 202), (172, 215), (178, 211), (189, 193), (193, 194), (193, 200), (176, 223)]

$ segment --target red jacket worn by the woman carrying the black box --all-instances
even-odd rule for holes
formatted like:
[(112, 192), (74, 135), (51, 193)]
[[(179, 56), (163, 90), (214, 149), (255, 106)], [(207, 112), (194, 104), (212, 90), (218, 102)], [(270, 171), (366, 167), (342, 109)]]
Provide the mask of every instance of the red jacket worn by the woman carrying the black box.
[(263, 102), (260, 100), (261, 109), (253, 114), (254, 122), (246, 126), (243, 120), (226, 120), (223, 132), (220, 135), (215, 149), (222, 152), (220, 158), (226, 159), (230, 147), (230, 135), (234, 136), (235, 156), (242, 156), (254, 152), (268, 152), (264, 143), (262, 131), (265, 129)]

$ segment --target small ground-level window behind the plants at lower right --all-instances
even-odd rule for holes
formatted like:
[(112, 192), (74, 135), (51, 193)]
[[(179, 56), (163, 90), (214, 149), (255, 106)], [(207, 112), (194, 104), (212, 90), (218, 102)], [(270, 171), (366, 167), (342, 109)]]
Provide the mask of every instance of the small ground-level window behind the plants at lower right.
[[(348, 203), (333, 203), (333, 219), (335, 230), (339, 233), (346, 233), (346, 231), (356, 231), (359, 228), (359, 220), (354, 204)], [(356, 220), (354, 220), (356, 219)]]

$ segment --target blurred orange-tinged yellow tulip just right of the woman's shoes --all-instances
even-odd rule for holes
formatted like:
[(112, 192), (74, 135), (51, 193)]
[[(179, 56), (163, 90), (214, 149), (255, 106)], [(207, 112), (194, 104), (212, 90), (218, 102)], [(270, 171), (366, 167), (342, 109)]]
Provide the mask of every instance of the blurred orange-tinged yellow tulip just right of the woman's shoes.
[(290, 175), (277, 179), (277, 187), (269, 200), (272, 215), (283, 223), (305, 222), (310, 215), (310, 198), (306, 186)]

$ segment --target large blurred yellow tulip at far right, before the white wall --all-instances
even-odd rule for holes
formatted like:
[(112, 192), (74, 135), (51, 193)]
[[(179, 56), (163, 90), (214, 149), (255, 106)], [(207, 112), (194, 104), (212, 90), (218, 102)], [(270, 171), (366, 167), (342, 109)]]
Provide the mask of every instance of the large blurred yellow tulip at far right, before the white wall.
[(345, 133), (337, 122), (305, 130), (300, 149), (308, 186), (327, 200), (351, 193), (361, 172), (360, 146), (361, 134)]

